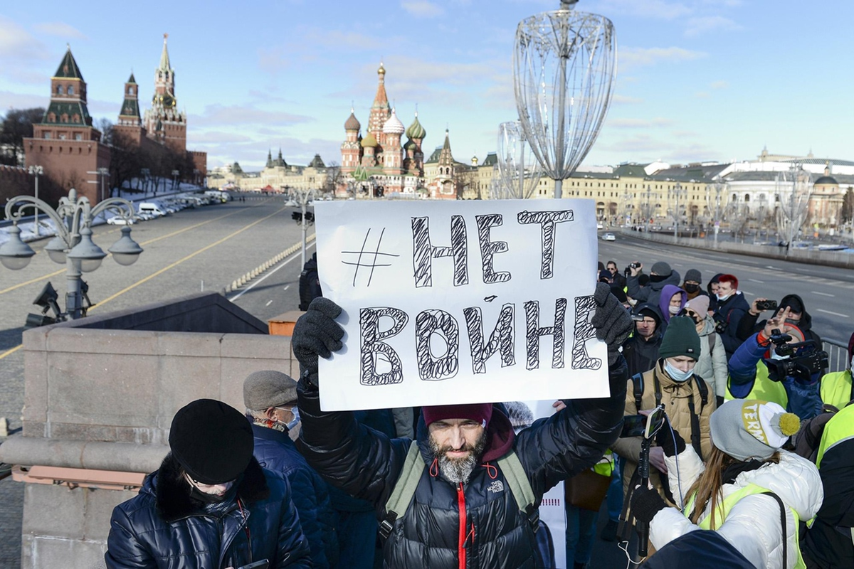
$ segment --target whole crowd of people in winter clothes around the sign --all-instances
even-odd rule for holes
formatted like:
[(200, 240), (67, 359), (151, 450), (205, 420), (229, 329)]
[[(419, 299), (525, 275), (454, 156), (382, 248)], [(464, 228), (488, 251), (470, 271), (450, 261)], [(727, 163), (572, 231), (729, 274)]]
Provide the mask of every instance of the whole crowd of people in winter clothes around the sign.
[[(106, 565), (521, 569), (555, 567), (565, 547), (567, 567), (600, 567), (606, 503), (606, 542), (648, 527), (646, 559), (627, 548), (641, 566), (854, 566), (854, 383), (826, 373), (804, 299), (747, 302), (737, 276), (682, 279), (665, 261), (598, 276), (611, 395), (538, 421), (518, 402), (322, 411), (341, 309), (306, 303), (299, 380), (250, 374), (243, 414), (180, 409), (171, 452), (114, 509)], [(628, 427), (658, 406), (641, 485)], [(538, 515), (560, 482), (564, 543)]]

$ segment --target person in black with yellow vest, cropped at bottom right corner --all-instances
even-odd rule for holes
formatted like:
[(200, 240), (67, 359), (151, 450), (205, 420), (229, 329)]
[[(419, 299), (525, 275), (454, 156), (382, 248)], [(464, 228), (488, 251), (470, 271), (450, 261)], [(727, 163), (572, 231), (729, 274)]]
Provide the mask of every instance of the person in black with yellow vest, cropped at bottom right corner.
[(854, 567), (854, 405), (825, 423), (816, 466), (824, 502), (804, 536), (804, 561), (808, 569)]

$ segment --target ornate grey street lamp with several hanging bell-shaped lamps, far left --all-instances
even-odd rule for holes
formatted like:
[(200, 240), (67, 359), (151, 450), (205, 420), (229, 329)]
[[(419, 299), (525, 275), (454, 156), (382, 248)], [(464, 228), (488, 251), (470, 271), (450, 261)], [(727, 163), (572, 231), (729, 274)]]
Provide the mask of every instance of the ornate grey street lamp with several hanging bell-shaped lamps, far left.
[[(29, 195), (16, 195), (6, 203), (6, 218), (11, 219), (13, 225), (9, 229), (9, 241), (0, 246), (0, 263), (7, 269), (23, 269), (36, 254), (32, 247), (20, 239), (18, 228), (23, 213), (31, 207), (36, 211), (41, 210), (53, 220), (56, 237), (48, 242), (44, 250), (50, 260), (66, 265), (66, 311), (58, 316), (72, 319), (85, 316), (88, 308), (83, 306), (86, 287), (80, 277), (82, 273), (100, 267), (102, 259), (107, 256), (107, 253), (92, 241), (92, 220), (106, 210), (113, 210), (129, 221), (133, 218), (133, 206), (130, 201), (122, 198), (108, 198), (92, 207), (89, 198), (77, 196), (76, 189), (71, 189), (67, 197), (61, 198), (56, 209)], [(116, 263), (129, 265), (136, 262), (143, 248), (131, 239), (131, 228), (126, 224), (121, 228), (119, 241), (116, 241), (108, 252), (113, 254)], [(61, 319), (64, 320), (65, 317)]]

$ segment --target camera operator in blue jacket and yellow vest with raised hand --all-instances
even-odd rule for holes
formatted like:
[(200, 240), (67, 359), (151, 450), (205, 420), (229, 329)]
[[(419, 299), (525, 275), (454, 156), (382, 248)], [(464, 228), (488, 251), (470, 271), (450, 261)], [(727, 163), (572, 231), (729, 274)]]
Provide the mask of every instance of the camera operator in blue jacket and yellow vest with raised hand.
[(725, 398), (773, 401), (805, 421), (822, 412), (819, 377), (827, 352), (804, 345), (804, 333), (787, 322), (789, 316), (790, 309), (781, 308), (735, 351)]

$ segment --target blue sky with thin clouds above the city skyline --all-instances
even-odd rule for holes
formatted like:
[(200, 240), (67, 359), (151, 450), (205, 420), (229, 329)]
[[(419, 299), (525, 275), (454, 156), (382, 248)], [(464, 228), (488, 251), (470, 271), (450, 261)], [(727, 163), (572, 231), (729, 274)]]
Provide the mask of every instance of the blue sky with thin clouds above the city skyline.
[[(252, 0), (3, 3), (0, 108), (44, 105), (72, 51), (96, 118), (116, 120), (131, 71), (143, 108), (162, 34), (208, 165), (256, 169), (281, 147), (340, 161), (351, 102), (367, 123), (377, 67), (425, 150), (450, 131), (454, 158), (483, 159), (515, 119), (513, 36), (559, 0)], [(854, 160), (854, 3), (847, 0), (581, 0), (617, 31), (617, 84), (585, 165), (750, 160), (769, 152)]]

